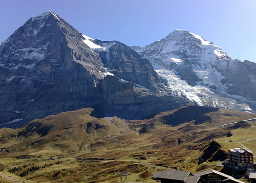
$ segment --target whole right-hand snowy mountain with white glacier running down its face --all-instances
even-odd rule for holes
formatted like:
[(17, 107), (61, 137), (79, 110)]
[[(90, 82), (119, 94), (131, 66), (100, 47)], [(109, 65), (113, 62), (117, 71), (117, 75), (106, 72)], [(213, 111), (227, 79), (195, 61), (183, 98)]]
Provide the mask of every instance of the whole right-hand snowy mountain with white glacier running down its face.
[(232, 60), (221, 47), (184, 30), (132, 48), (151, 61), (173, 96), (200, 106), (256, 109), (256, 63)]

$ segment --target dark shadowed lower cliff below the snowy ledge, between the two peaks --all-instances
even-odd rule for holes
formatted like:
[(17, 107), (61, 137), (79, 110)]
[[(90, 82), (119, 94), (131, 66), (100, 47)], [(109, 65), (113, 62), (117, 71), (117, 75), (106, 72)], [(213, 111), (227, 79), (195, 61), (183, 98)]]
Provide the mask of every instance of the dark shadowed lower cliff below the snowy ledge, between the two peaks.
[(102, 100), (94, 111), (97, 117), (117, 115), (129, 120), (142, 119), (186, 103), (181, 98), (156, 96), (151, 90), (136, 87), (131, 81), (120, 81), (111, 75), (101, 81), (100, 90)]

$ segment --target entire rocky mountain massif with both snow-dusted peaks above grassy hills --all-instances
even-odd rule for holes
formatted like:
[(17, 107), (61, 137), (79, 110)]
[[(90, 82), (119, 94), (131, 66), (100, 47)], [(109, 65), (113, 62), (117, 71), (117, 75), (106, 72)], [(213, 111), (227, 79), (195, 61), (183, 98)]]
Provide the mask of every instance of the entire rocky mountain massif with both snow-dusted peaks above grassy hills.
[(90, 38), (47, 12), (0, 45), (0, 127), (84, 107), (125, 119), (188, 102), (253, 111), (255, 65), (188, 31), (129, 47)]

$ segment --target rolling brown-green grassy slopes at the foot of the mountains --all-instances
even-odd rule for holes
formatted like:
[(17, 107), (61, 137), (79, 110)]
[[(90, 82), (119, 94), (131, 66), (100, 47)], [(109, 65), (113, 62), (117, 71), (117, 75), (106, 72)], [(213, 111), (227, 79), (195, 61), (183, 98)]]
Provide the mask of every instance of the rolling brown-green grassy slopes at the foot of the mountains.
[[(248, 125), (220, 126), (256, 117), (185, 106), (152, 119), (125, 121), (98, 119), (90, 115), (92, 111), (84, 108), (18, 129), (0, 128), (0, 170), (17, 169), (14, 174), (34, 182), (116, 182), (120, 170), (130, 172), (129, 181), (151, 182), (152, 173), (165, 168), (220, 170), (210, 163), (225, 158), (219, 139)], [(39, 155), (44, 156), (33, 160)], [(51, 155), (59, 159), (51, 161)]]

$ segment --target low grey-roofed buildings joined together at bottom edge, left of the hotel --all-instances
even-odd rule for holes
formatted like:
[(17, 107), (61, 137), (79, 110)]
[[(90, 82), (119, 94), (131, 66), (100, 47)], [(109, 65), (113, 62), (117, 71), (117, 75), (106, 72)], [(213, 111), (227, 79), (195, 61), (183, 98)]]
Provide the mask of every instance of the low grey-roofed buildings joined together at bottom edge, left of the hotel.
[(155, 172), (152, 179), (161, 183), (244, 183), (216, 170), (207, 170), (194, 174), (179, 170), (163, 170), (162, 172)]

